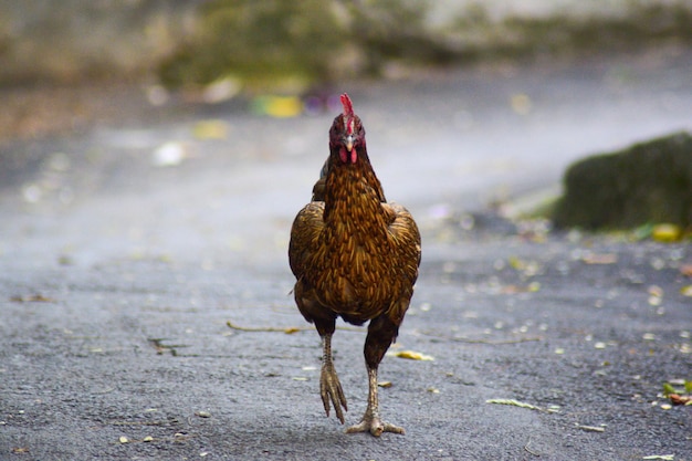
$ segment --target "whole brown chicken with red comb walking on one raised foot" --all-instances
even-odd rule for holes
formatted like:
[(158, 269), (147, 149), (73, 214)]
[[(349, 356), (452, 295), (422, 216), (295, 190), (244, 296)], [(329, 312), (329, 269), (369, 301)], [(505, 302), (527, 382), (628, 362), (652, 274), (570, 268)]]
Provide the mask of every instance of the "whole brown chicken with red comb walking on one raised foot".
[(313, 188), (313, 200), (293, 222), (289, 260), (297, 279), (298, 310), (322, 337), (319, 391), (329, 416), (344, 423), (346, 397), (334, 368), (332, 335), (336, 318), (368, 325), (365, 363), (368, 406), (347, 432), (403, 433), (379, 416), (377, 367), (396, 339), (420, 263), (420, 233), (411, 214), (387, 203), (368, 158), (365, 129), (348, 95), (329, 129), (329, 157)]

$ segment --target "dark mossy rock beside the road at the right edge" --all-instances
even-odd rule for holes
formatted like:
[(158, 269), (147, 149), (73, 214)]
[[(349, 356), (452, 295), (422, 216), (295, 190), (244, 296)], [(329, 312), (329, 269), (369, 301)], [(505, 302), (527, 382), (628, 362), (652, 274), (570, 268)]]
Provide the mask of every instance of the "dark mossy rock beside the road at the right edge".
[(692, 136), (675, 133), (570, 166), (556, 227), (692, 224)]

